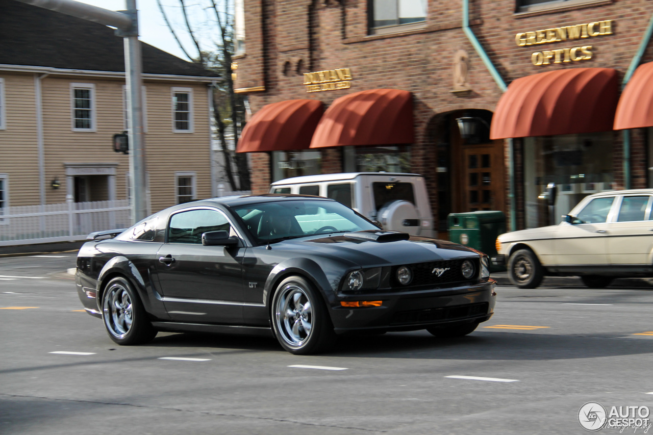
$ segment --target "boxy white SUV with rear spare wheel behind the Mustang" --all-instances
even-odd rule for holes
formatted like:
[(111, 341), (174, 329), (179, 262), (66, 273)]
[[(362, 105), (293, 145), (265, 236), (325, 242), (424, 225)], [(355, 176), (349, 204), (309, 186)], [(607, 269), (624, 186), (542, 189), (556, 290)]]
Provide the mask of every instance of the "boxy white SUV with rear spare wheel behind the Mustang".
[(434, 237), (424, 177), (392, 172), (307, 175), (272, 183), (270, 193), (315, 195), (342, 202), (384, 229)]

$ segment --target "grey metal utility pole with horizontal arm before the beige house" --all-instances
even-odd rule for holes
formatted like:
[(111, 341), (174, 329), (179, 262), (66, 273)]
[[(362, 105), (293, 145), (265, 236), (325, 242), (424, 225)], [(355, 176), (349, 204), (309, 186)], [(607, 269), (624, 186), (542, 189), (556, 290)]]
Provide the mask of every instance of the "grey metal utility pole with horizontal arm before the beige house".
[(125, 81), (129, 95), (129, 191), (132, 223), (148, 216), (145, 140), (143, 135), (142, 57), (138, 42), (136, 0), (127, 0), (127, 10), (113, 11), (74, 0), (17, 0), (99, 24), (117, 27), (125, 41)]

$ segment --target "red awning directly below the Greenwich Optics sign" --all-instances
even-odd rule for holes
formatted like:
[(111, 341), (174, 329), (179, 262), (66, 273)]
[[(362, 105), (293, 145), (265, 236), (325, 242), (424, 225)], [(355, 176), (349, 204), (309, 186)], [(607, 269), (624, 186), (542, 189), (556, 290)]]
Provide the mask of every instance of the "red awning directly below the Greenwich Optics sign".
[(612, 130), (617, 71), (572, 68), (518, 78), (492, 117), (491, 139)]

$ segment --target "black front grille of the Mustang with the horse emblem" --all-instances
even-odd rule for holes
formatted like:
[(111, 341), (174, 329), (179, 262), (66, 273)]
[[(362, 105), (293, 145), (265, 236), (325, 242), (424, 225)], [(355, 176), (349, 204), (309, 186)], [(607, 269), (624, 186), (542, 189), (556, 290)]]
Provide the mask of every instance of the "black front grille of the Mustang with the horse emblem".
[[(467, 279), (462, 276), (460, 267), (462, 262), (470, 260), (474, 265), (474, 274), (472, 278)], [(392, 287), (411, 287), (415, 285), (447, 285), (462, 281), (472, 281), (479, 276), (479, 260), (478, 259), (456, 259), (456, 260), (441, 260), (429, 261), (428, 263), (414, 263), (406, 265), (413, 271), (413, 280), (406, 286), (402, 285), (396, 278), (396, 270), (400, 266), (392, 268)], [(441, 276), (438, 276), (436, 269), (445, 270)]]

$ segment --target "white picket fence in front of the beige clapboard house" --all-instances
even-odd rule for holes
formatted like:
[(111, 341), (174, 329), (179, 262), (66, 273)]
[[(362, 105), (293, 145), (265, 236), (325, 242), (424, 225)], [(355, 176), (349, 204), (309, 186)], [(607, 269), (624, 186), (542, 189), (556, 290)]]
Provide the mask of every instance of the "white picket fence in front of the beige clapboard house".
[(0, 214), (0, 246), (74, 242), (130, 222), (127, 199), (8, 207)]

